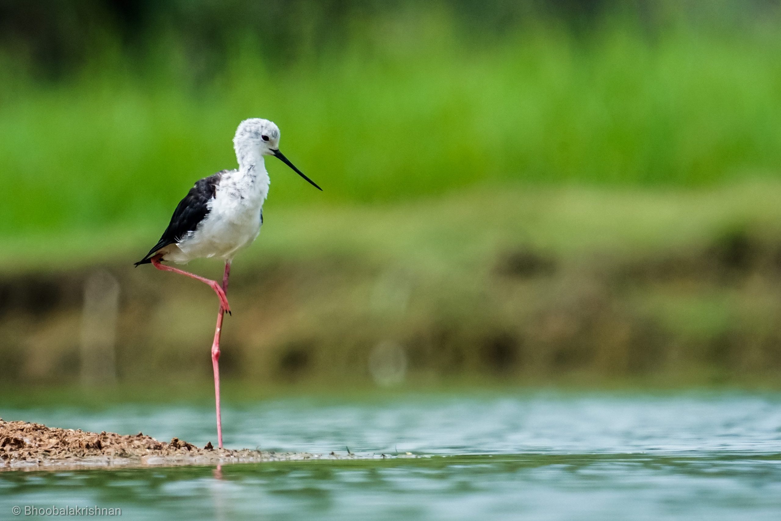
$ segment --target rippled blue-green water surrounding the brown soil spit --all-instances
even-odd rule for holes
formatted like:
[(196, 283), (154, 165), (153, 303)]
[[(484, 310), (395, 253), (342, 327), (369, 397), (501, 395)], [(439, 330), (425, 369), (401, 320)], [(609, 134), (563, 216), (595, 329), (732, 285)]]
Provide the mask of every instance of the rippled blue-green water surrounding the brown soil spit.
[[(211, 409), (3, 409), (4, 419), (213, 441)], [(14, 505), (122, 519), (781, 519), (777, 394), (287, 399), (226, 408), (226, 445), (420, 459), (0, 473)], [(24, 517), (24, 516), (20, 516)]]

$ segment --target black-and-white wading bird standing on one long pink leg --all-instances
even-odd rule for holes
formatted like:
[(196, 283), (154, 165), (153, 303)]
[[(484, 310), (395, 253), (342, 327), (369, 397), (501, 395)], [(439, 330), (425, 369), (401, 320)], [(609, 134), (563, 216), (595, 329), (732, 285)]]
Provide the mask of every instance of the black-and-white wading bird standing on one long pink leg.
[[(219, 312), (212, 341), (212, 369), (217, 414), (217, 442), (223, 448), (223, 425), (219, 410), (219, 337), (223, 316), (231, 314), (226, 291), (234, 256), (260, 234), (263, 202), (269, 194), (266, 156), (280, 159), (309, 184), (319, 187), (280, 152), (280, 129), (275, 123), (250, 118), (239, 123), (234, 136), (238, 168), (220, 170), (195, 182), (173, 211), (173, 216), (157, 241), (135, 266), (152, 264), (157, 269), (180, 273), (208, 284), (219, 298)], [(200, 277), (183, 269), (162, 264), (185, 264), (193, 259), (216, 257), (225, 262), (223, 282)]]

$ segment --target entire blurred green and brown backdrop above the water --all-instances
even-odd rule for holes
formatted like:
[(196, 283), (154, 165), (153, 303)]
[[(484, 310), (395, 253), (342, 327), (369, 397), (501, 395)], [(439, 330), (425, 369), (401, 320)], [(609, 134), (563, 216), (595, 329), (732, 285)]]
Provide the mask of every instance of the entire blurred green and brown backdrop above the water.
[(209, 392), (133, 262), (248, 117), (323, 192), (269, 160), (228, 385), (778, 387), (776, 0), (2, 0), (3, 384)]

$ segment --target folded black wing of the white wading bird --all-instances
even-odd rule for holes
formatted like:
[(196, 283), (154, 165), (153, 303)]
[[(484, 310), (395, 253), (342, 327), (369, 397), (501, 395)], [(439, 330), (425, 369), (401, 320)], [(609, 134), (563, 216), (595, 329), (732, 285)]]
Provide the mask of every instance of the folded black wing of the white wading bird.
[(177, 209), (173, 211), (171, 222), (168, 223), (166, 231), (162, 232), (160, 240), (149, 250), (144, 259), (136, 262), (136, 266), (152, 262), (150, 259), (161, 248), (165, 248), (169, 244), (176, 244), (182, 240), (182, 237), (187, 235), (187, 232), (194, 231), (198, 227), (198, 224), (209, 215), (208, 203), (214, 198), (219, 180), (222, 179), (223, 173), (226, 172), (228, 170), (220, 170), (218, 173), (204, 177), (195, 183), (195, 186), (179, 202)]

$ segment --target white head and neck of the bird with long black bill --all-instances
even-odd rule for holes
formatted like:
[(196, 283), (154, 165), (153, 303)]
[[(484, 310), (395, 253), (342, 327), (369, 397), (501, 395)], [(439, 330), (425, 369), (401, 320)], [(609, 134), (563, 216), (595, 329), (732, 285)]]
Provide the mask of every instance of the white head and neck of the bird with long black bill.
[(234, 136), (234, 150), (241, 170), (254, 167), (263, 155), (273, 155), (290, 166), (295, 173), (298, 173), (312, 186), (322, 190), (280, 152), (280, 128), (273, 121), (250, 118), (239, 123)]

